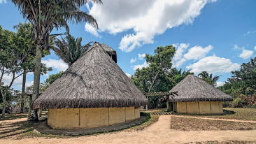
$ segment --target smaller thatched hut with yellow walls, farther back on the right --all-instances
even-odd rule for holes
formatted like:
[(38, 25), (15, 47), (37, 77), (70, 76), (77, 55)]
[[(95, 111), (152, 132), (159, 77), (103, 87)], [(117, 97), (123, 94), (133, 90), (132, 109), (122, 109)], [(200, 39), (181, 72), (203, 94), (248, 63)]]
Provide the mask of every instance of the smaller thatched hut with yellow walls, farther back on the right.
[(187, 75), (159, 101), (166, 102), (172, 111), (190, 114), (222, 113), (222, 101), (233, 101), (225, 94), (195, 75)]

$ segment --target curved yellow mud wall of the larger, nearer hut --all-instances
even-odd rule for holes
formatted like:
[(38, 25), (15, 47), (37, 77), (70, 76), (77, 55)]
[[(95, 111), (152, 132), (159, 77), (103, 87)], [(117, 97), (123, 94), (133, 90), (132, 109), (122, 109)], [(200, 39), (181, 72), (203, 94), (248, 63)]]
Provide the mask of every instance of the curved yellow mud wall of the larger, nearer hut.
[(140, 117), (140, 108), (57, 108), (48, 110), (54, 129), (87, 129), (119, 124)]

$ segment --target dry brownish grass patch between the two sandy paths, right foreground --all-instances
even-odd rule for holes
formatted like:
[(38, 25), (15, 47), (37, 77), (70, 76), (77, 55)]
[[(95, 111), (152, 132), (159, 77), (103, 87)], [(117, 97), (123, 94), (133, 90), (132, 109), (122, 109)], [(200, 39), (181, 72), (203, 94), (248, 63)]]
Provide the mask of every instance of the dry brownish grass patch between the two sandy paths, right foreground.
[(181, 131), (253, 130), (255, 123), (171, 117), (171, 129)]

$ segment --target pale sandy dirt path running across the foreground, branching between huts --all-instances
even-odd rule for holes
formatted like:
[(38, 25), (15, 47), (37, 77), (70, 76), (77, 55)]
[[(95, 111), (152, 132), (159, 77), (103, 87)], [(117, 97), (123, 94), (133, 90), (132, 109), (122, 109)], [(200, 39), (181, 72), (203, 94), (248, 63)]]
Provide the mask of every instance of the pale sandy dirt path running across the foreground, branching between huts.
[(22, 140), (0, 139), (5, 143), (189, 143), (196, 141), (256, 141), (253, 131), (176, 131), (169, 129), (170, 115), (162, 115), (159, 121), (143, 131), (121, 131), (98, 136), (78, 138), (24, 138)]

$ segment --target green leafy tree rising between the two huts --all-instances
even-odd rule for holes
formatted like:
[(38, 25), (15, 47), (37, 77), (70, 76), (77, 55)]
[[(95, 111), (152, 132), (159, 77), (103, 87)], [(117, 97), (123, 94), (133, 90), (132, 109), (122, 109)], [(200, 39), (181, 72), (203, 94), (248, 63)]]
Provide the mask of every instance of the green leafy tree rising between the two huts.
[[(175, 55), (176, 48), (173, 45), (157, 47), (155, 55), (145, 55), (148, 67), (136, 69), (134, 75), (131, 75), (131, 81), (141, 92), (169, 92), (178, 82), (190, 74), (188, 71), (178, 71), (171, 69), (172, 58)], [(166, 108), (166, 103), (159, 103), (161, 96), (149, 96), (148, 108)]]

